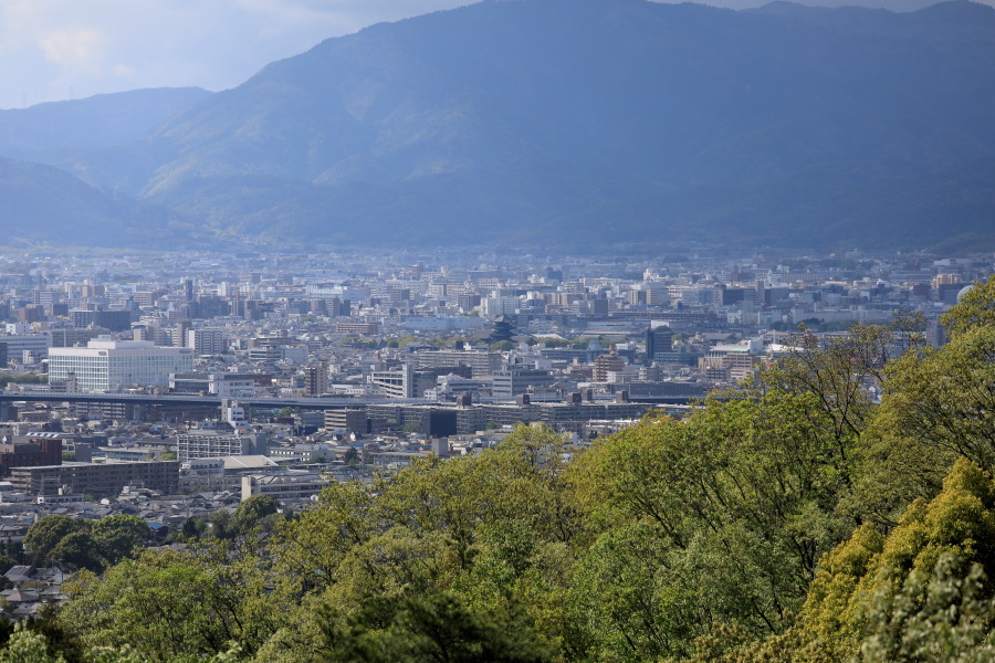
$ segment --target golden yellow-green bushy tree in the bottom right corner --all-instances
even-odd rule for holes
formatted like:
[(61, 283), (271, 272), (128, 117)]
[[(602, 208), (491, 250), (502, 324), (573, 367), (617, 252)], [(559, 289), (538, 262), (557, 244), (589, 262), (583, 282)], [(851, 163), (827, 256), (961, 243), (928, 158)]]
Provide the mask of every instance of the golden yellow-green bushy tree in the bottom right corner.
[(788, 632), (712, 660), (991, 660), (993, 554), (995, 482), (961, 459), (887, 536), (863, 525), (826, 557)]

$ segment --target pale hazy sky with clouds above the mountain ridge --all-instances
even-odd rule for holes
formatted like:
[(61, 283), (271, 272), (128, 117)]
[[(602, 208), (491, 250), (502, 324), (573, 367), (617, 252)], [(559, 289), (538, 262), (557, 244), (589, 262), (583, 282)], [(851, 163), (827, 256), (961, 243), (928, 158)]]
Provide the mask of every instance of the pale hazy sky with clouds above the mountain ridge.
[[(712, 0), (756, 6), (766, 0)], [(819, 0), (807, 0), (816, 2)], [(821, 0), (830, 3), (838, 0)], [(856, 2), (873, 2), (857, 0)], [(987, 3), (995, 0), (985, 0)], [(876, 4), (928, 0), (877, 0)], [(0, 108), (142, 87), (224, 90), (379, 21), (469, 0), (0, 0)]]

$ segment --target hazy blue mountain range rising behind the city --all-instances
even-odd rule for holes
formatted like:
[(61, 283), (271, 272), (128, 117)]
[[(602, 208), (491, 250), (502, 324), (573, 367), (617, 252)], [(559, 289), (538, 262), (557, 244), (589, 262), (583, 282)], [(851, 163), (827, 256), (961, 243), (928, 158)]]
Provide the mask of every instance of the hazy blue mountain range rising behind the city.
[[(995, 250), (995, 9), (489, 0), (0, 112), (25, 242)], [(0, 241), (0, 243), (8, 243)]]

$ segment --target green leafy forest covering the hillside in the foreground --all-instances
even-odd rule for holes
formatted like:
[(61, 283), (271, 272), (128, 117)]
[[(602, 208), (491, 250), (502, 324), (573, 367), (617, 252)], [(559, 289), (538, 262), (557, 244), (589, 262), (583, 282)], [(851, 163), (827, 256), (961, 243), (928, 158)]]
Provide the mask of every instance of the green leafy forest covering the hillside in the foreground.
[(995, 276), (943, 323), (939, 349), (908, 319), (803, 334), (583, 452), (521, 427), (256, 502), (82, 568), (0, 663), (993, 661)]

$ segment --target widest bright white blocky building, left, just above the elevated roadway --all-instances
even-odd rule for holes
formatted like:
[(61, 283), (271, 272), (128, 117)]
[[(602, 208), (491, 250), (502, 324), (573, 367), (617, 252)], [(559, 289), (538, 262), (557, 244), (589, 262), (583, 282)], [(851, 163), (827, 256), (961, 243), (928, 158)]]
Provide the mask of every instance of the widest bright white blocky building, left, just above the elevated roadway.
[(191, 348), (164, 348), (147, 340), (91, 340), (85, 348), (49, 350), (49, 380), (75, 380), (80, 391), (168, 387), (169, 373), (193, 370)]

